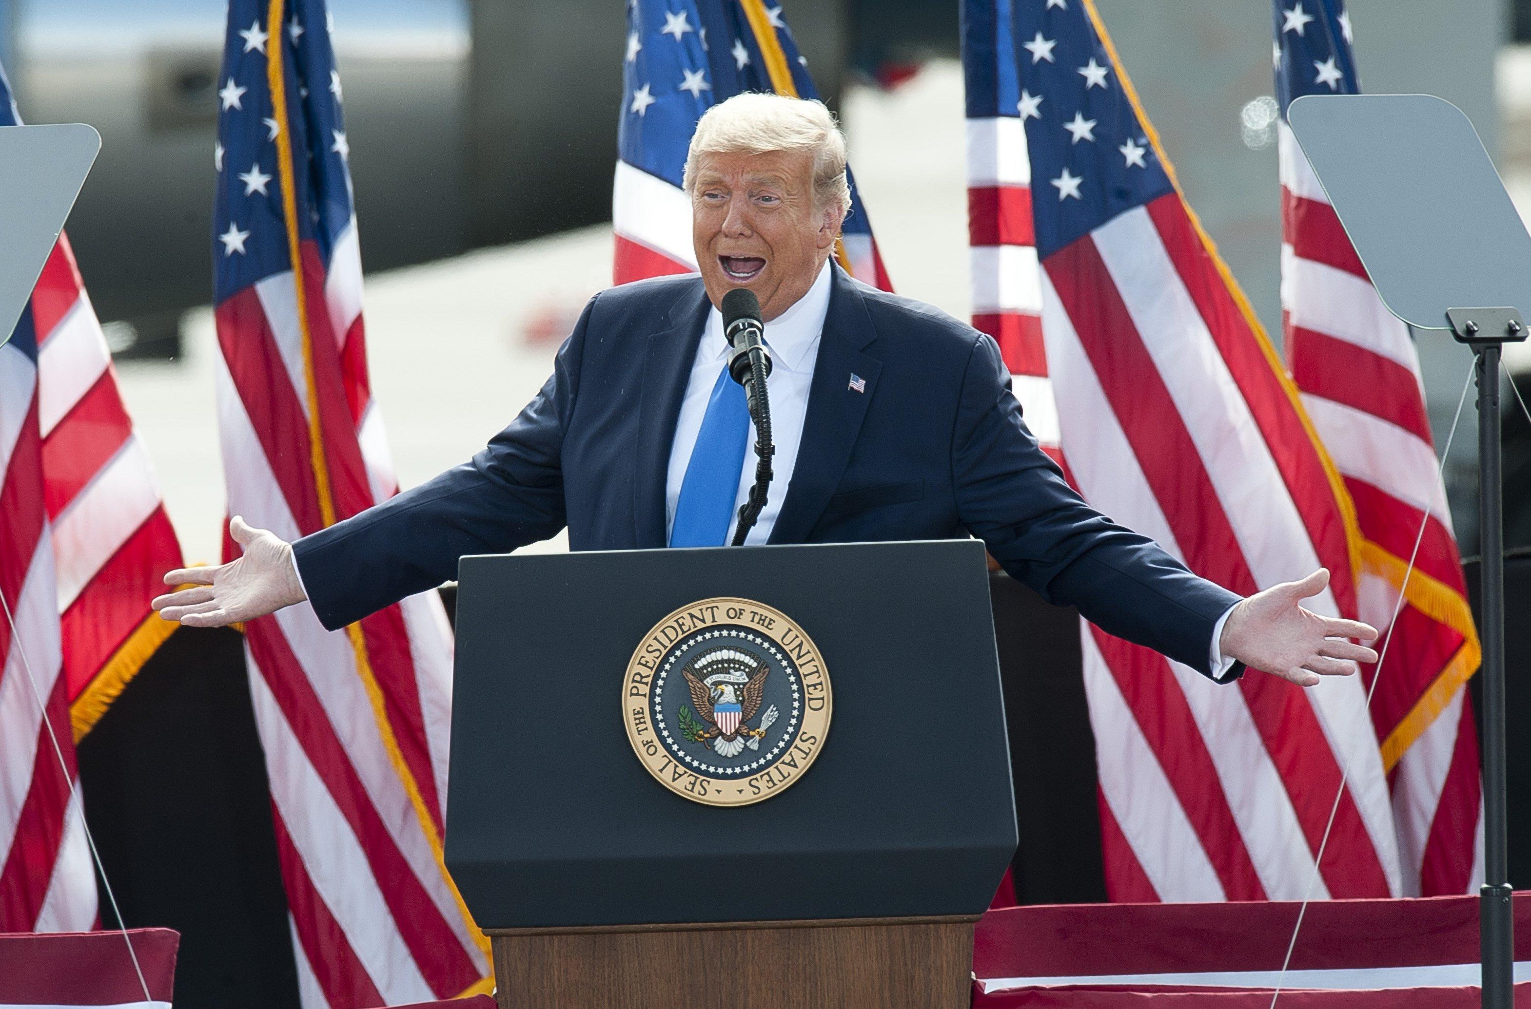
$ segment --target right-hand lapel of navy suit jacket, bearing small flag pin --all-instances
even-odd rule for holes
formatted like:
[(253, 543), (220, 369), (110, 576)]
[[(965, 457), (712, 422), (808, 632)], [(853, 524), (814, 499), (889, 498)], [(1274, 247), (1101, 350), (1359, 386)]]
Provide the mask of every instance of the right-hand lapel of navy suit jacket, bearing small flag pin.
[[(862, 353), (877, 338), (877, 330), (873, 329), (856, 283), (839, 266), (833, 269), (830, 310), (824, 318), (819, 356), (813, 364), (798, 463), (772, 527), (770, 543), (802, 543), (807, 538), (841, 483), (860, 434), (867, 405), (877, 391), (882, 362)], [(863, 391), (851, 388), (851, 376), (865, 381)], [(772, 488), (772, 494), (779, 491)]]

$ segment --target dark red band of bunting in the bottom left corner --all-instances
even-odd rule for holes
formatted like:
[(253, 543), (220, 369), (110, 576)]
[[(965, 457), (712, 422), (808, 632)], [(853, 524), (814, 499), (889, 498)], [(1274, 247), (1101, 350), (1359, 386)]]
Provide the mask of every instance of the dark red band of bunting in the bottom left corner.
[(168, 928), (133, 928), (126, 940), (122, 933), (0, 936), (0, 1006), (141, 1003), (138, 969), (149, 994), (168, 1003), (179, 942), (181, 936)]

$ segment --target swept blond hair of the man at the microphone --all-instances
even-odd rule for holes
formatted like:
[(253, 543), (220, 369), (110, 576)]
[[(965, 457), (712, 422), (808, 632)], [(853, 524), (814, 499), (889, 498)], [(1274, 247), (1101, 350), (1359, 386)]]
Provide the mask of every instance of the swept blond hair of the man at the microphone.
[(813, 154), (813, 196), (821, 206), (851, 211), (851, 185), (845, 177), (845, 135), (824, 102), (744, 92), (721, 101), (697, 121), (686, 151), (681, 187), (692, 191), (701, 154), (767, 154), (805, 151)]

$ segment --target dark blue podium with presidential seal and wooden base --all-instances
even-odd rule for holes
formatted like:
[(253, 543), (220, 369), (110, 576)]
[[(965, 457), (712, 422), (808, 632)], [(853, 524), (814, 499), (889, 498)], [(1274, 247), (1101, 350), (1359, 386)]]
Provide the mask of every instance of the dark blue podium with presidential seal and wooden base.
[(465, 556), (456, 630), (502, 1007), (969, 1003), (1017, 845), (980, 543)]

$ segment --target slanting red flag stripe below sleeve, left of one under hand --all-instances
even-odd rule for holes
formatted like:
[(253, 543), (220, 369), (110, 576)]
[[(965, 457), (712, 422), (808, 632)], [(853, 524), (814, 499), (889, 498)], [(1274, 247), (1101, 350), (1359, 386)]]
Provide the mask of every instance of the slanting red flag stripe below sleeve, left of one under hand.
[(1156, 651), (1113, 638), (1093, 624), (1090, 633), (1200, 838), (1223, 894), (1229, 900), (1265, 900), (1265, 887), (1245, 847), (1228, 796), (1220, 787), (1208, 787), (1208, 783), (1219, 781), (1217, 766), (1206, 752), (1206, 740), (1197, 729), (1185, 693), (1170, 671), (1170, 662)]

